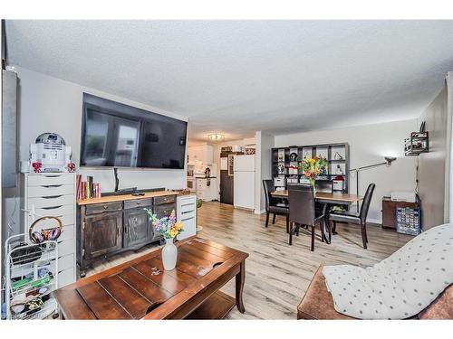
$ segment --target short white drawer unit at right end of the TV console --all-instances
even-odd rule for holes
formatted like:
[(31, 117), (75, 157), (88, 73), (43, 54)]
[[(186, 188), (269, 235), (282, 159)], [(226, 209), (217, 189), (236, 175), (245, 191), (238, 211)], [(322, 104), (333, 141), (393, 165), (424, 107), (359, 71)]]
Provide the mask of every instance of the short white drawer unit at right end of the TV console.
[(195, 194), (178, 195), (176, 218), (182, 221), (184, 231), (178, 240), (183, 240), (197, 233), (197, 196)]

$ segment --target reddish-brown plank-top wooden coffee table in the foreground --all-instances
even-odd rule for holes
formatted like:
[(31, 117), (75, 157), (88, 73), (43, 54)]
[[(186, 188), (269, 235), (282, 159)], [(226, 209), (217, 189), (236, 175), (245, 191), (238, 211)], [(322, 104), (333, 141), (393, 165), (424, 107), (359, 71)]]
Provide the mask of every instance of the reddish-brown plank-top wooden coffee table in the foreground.
[[(221, 319), (242, 299), (248, 254), (210, 240), (180, 241), (177, 267), (165, 271), (160, 249), (53, 294), (66, 319)], [(236, 298), (219, 291), (236, 278)]]

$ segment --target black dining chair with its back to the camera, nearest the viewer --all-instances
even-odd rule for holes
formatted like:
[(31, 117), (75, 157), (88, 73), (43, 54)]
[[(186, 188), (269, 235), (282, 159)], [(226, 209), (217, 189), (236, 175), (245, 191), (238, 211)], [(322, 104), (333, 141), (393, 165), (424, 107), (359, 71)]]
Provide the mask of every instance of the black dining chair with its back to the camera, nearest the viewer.
[(310, 184), (288, 184), (289, 221), (294, 225), (289, 231), (289, 244), (293, 245), (293, 234), (299, 235), (301, 226), (312, 228), (312, 245), (314, 250), (315, 226), (317, 223), (321, 229), (321, 240), (323, 241), (323, 224), (327, 205), (323, 205), (321, 213), (316, 214), (314, 208), (313, 186)]

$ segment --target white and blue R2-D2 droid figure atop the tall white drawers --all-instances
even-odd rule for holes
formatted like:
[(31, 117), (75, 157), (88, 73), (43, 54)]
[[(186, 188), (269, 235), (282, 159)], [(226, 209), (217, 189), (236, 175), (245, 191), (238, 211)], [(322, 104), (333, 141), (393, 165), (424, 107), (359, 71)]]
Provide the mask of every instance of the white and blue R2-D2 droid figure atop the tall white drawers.
[(43, 133), (30, 144), (28, 163), (23, 163), (22, 172), (74, 172), (71, 161), (72, 148), (66, 146), (63, 137), (56, 133)]

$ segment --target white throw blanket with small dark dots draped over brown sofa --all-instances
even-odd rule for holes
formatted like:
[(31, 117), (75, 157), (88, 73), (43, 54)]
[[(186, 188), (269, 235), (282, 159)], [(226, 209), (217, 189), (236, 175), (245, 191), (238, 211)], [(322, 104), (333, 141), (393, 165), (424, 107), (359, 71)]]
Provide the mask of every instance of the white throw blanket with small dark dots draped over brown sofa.
[(453, 223), (433, 227), (371, 268), (323, 268), (335, 310), (360, 319), (419, 314), (453, 283)]

